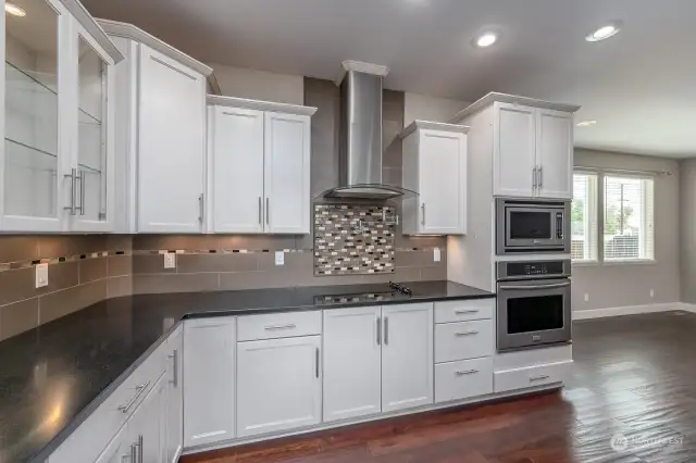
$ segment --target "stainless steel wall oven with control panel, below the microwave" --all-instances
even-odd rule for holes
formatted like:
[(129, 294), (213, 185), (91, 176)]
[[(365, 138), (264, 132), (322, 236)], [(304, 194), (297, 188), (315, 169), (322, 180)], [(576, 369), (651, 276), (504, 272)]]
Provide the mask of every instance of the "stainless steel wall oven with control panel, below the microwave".
[(498, 351), (571, 341), (570, 260), (498, 262)]

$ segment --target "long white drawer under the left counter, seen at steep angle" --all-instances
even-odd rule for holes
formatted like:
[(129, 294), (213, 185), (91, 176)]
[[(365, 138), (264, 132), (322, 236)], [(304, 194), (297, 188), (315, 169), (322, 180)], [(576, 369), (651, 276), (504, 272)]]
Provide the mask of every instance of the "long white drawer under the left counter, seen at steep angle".
[(50, 463), (95, 461), (166, 370), (166, 343), (158, 347), (55, 450)]

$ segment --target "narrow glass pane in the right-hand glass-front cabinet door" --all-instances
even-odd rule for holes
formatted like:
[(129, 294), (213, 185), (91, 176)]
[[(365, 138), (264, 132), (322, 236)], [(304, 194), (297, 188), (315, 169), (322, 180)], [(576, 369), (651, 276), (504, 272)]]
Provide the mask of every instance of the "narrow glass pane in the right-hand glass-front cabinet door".
[(80, 215), (90, 221), (104, 220), (107, 211), (105, 71), (103, 60), (79, 37), (78, 159), (82, 195), (77, 203)]

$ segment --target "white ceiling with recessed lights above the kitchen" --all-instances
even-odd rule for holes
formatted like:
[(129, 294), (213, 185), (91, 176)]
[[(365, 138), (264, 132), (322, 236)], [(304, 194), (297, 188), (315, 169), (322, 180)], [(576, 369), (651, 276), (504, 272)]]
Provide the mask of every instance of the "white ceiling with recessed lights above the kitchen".
[[(384, 64), (386, 87), (474, 101), (488, 91), (581, 104), (576, 145), (696, 157), (694, 0), (83, 0), (206, 61), (333, 79)], [(610, 20), (622, 32), (584, 36)], [(500, 42), (474, 49), (484, 26)]]

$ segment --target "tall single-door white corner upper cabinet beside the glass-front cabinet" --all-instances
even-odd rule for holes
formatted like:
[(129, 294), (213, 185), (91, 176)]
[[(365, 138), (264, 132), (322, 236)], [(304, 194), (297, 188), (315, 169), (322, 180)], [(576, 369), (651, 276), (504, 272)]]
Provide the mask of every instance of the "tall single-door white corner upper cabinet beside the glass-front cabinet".
[(212, 68), (133, 25), (99, 23), (125, 57), (115, 70), (116, 229), (202, 233)]

